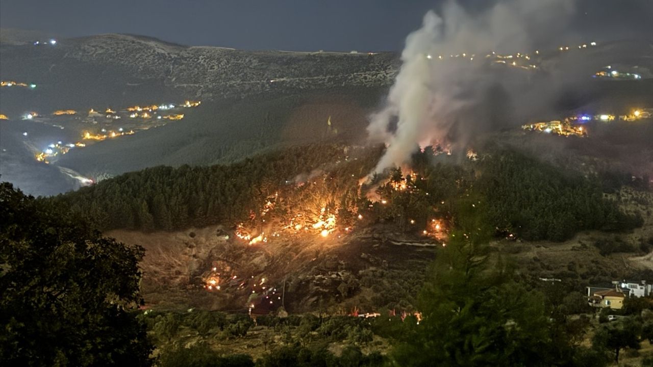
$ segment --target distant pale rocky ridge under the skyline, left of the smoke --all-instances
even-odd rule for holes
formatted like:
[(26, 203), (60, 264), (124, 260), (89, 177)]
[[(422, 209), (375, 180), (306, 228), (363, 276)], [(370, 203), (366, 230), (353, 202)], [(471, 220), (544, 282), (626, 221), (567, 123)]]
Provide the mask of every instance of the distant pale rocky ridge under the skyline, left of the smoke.
[(39, 85), (37, 93), (2, 93), (5, 114), (389, 86), (398, 67), (392, 53), (242, 51), (116, 34), (56, 46), (3, 43), (0, 62), (3, 80)]

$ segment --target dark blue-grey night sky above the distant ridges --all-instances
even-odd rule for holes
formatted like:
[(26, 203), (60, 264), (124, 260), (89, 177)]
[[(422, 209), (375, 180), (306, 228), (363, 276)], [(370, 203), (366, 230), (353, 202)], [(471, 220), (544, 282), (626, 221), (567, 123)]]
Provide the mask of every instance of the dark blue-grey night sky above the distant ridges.
[[(0, 26), (67, 36), (132, 33), (249, 50), (401, 50), (442, 0), (1, 0)], [(461, 1), (471, 12), (492, 1)], [(569, 33), (653, 39), (653, 0), (579, 0)]]

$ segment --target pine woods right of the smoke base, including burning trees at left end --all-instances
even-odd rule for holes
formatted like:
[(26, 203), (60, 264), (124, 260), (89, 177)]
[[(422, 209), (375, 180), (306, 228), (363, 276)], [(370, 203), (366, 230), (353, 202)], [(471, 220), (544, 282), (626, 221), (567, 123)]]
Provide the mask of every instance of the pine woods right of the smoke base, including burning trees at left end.
[[(405, 231), (422, 231), (430, 218), (451, 226), (475, 215), (495, 229), (495, 236), (552, 241), (578, 231), (628, 231), (643, 224), (641, 215), (624, 214), (606, 199), (598, 180), (513, 150), (494, 150), (462, 165), (431, 164), (428, 155), (414, 155), (415, 176), (404, 177), (395, 169), (390, 181), (377, 188), (387, 202), (374, 206), (379, 219), (392, 220)], [(407, 189), (394, 189), (398, 183)]]

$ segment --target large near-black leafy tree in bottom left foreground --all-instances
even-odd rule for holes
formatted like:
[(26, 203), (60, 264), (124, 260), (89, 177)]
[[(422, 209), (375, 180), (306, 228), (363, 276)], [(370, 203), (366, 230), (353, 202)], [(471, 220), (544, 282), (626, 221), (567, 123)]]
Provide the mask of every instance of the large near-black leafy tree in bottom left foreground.
[(0, 364), (149, 366), (142, 256), (0, 183)]

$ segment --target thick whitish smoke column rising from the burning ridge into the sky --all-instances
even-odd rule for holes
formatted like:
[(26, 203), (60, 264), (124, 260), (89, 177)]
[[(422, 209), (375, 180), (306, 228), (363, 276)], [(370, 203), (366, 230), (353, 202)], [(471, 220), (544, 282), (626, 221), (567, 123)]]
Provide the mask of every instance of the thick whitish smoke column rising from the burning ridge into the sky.
[[(537, 40), (554, 37), (564, 28), (574, 3), (505, 0), (469, 14), (449, 1), (441, 15), (427, 12), (422, 27), (406, 38), (402, 67), (385, 107), (370, 119), (370, 140), (387, 145), (374, 172), (407, 163), (419, 146), (464, 148), (473, 135), (491, 125), (488, 120), (507, 119), (515, 99), (537, 95), (529, 90), (533, 83), (528, 78), (515, 82), (488, 70), (483, 59), (492, 51), (533, 50)], [(545, 100), (541, 95), (538, 102)], [(391, 129), (395, 121), (396, 129)]]

